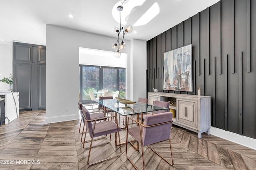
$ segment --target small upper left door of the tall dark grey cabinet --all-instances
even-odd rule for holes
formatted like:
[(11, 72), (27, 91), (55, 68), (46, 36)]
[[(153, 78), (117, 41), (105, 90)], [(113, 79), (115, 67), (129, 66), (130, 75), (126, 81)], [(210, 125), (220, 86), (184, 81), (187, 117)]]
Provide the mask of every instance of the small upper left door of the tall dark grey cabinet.
[(31, 46), (13, 45), (13, 61), (31, 62)]

